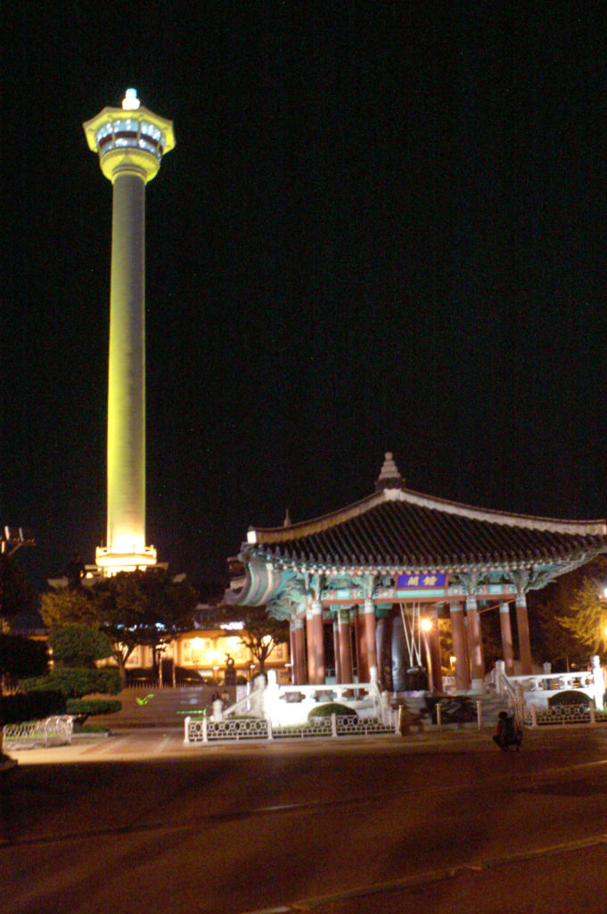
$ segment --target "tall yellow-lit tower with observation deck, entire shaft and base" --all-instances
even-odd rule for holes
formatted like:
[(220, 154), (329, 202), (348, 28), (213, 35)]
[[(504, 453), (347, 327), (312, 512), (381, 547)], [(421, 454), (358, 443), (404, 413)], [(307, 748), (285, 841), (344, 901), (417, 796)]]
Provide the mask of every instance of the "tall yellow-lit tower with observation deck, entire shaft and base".
[(134, 89), (121, 108), (104, 108), (83, 126), (113, 186), (108, 531), (96, 554), (109, 577), (156, 564), (145, 543), (145, 186), (175, 138), (173, 122), (142, 108)]

